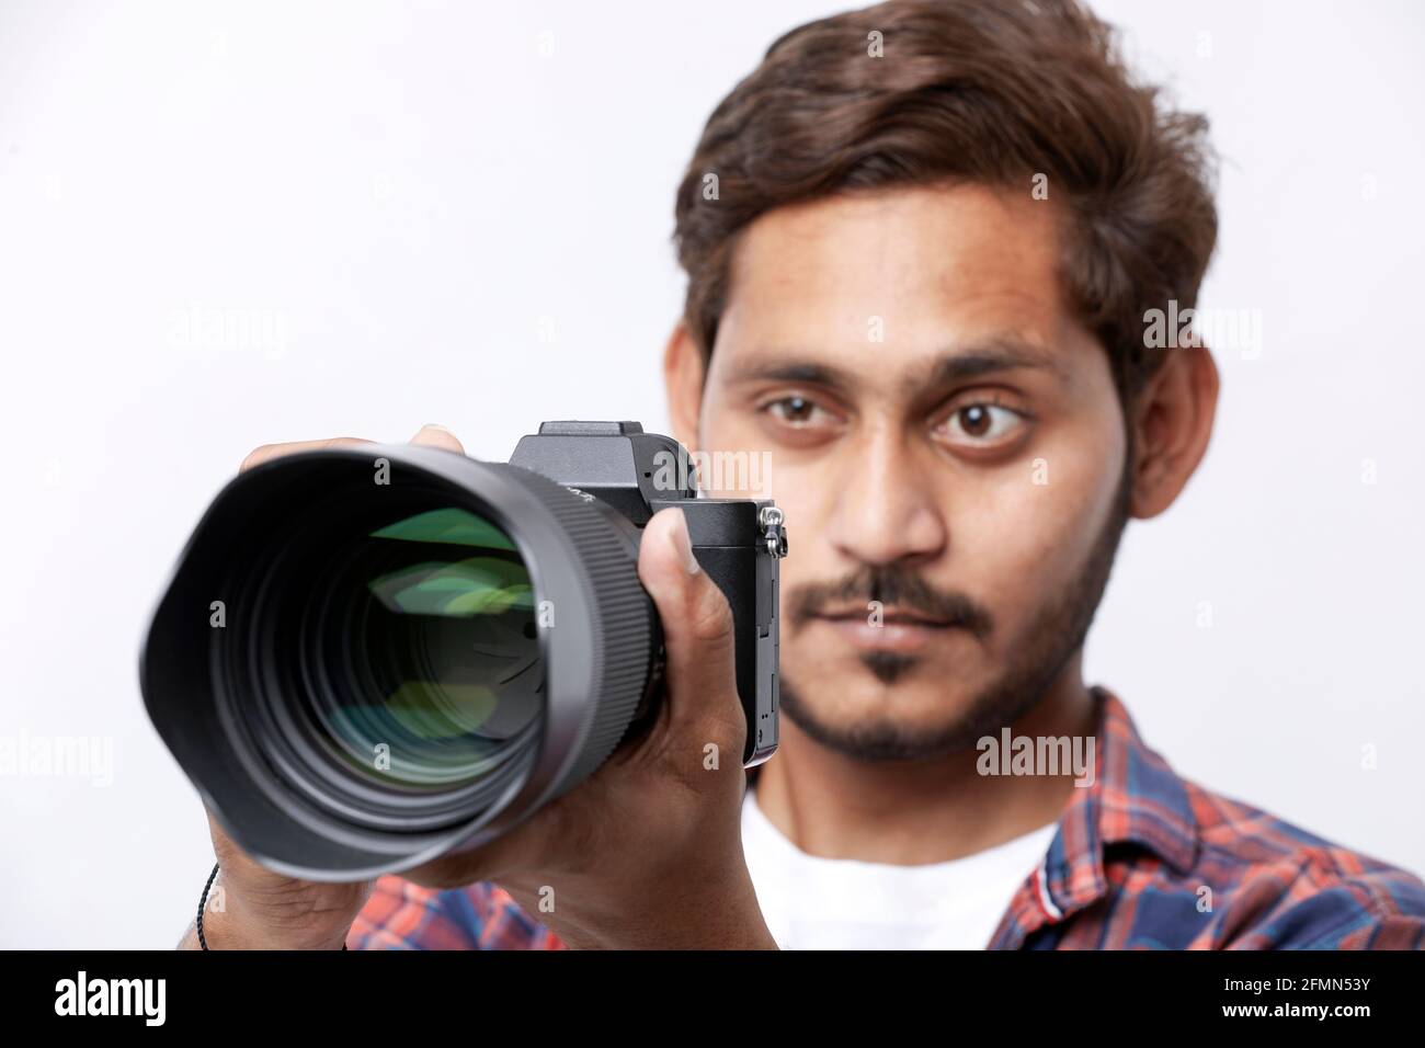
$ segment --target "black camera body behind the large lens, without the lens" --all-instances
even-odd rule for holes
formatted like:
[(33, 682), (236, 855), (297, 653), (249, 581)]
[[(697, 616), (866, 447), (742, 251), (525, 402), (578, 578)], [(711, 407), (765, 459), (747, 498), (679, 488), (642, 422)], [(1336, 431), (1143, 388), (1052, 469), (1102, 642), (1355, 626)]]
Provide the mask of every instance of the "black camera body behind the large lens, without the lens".
[(742, 764), (771, 757), (778, 740), (778, 560), (787, 555), (781, 510), (767, 499), (700, 499), (687, 449), (637, 422), (543, 422), (539, 433), (520, 439), (510, 465), (613, 509), (631, 525), (634, 556), (654, 513), (683, 510), (698, 566), (732, 610), (737, 693), (747, 717)]

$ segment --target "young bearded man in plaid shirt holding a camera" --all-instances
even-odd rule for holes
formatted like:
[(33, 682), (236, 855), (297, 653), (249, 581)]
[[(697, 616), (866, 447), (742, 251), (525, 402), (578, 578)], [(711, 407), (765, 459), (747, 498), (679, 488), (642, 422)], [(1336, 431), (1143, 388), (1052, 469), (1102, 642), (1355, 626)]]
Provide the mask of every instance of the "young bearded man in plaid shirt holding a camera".
[(375, 885), (278, 877), (214, 826), (212, 948), (1419, 947), (1419, 880), (1180, 779), (1082, 679), (1124, 523), (1207, 448), (1213, 358), (1144, 322), (1194, 305), (1214, 240), (1206, 121), (1072, 3), (778, 40), (680, 187), (664, 369), (687, 446), (770, 452), (779, 751), (704, 767), (744, 730), (727, 607), (660, 513), (648, 737)]

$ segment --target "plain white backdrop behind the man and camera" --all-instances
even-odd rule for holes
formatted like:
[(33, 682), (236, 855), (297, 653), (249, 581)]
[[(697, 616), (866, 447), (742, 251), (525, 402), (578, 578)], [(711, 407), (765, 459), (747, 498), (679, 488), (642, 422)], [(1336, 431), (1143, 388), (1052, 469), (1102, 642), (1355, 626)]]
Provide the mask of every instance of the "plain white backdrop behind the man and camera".
[[(167, 947), (192, 914), (207, 827), (135, 666), (247, 451), (664, 425), (683, 164), (834, 10), (0, 3), (0, 734), (114, 746), (107, 787), (0, 777), (0, 945)], [(1419, 873), (1425, 16), (1099, 10), (1213, 120), (1204, 305), (1261, 311), (1263, 348), (1223, 354), (1200, 473), (1129, 528), (1089, 679), (1180, 773)], [(281, 339), (185, 332), (204, 311)]]

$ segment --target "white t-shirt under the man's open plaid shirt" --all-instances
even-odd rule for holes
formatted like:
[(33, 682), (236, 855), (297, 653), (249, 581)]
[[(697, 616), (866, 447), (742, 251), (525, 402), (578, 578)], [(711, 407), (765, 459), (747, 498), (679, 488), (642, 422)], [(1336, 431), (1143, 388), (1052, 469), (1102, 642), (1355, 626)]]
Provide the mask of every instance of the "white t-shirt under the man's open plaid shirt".
[(742, 798), (742, 850), (782, 950), (983, 950), (1057, 823), (949, 863), (891, 865), (808, 856)]

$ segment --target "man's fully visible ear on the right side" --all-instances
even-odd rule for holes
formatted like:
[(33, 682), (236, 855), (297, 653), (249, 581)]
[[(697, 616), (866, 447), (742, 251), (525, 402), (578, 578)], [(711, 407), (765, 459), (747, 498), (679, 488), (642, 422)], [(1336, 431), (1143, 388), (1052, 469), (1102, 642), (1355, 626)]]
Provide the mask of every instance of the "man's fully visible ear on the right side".
[(1207, 346), (1177, 346), (1134, 406), (1130, 513), (1157, 516), (1173, 505), (1207, 452), (1217, 415), (1218, 375)]

